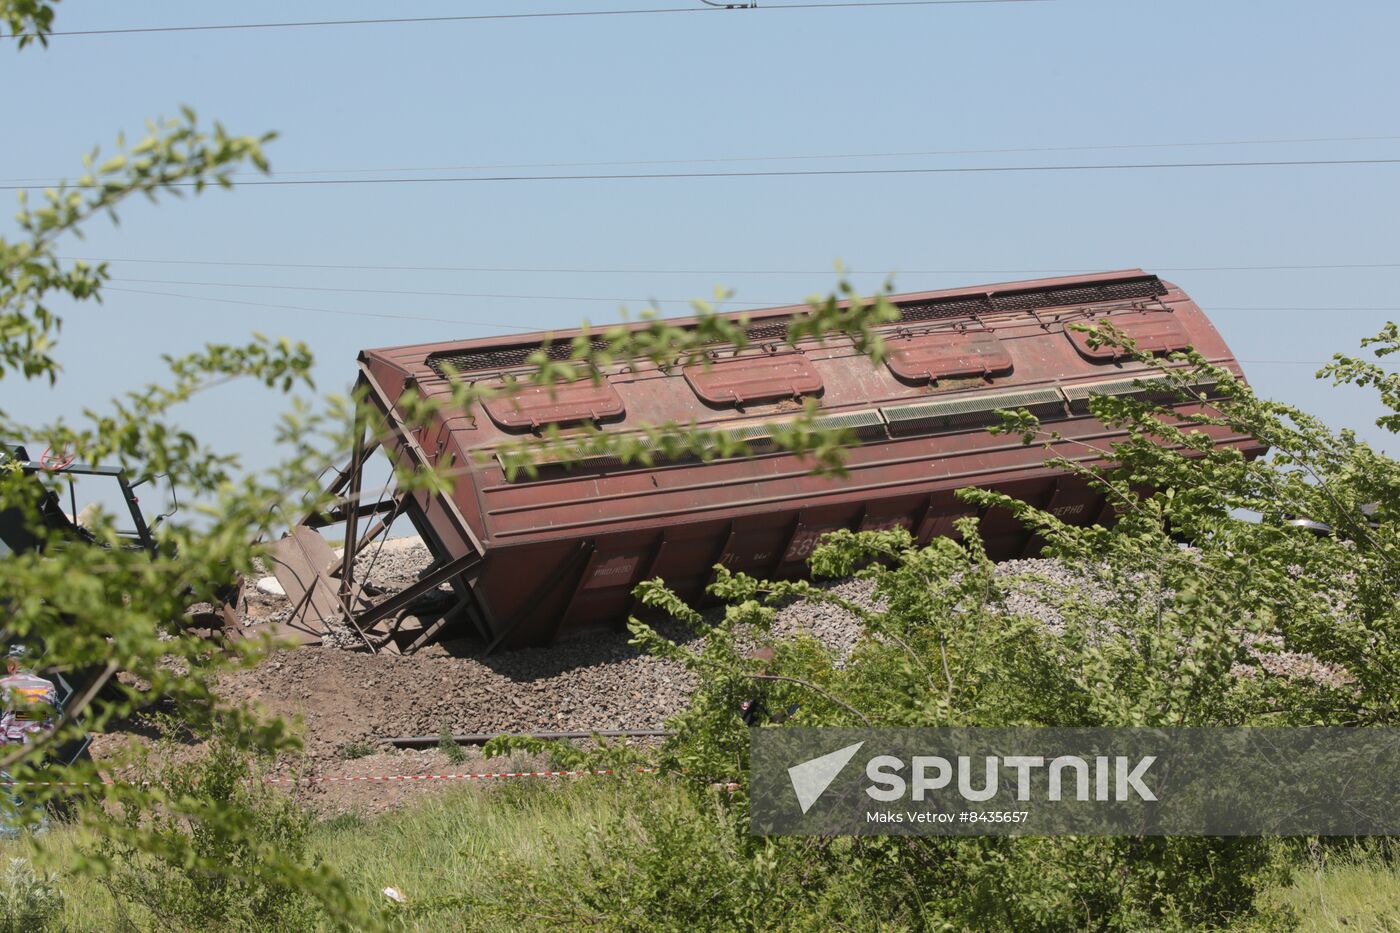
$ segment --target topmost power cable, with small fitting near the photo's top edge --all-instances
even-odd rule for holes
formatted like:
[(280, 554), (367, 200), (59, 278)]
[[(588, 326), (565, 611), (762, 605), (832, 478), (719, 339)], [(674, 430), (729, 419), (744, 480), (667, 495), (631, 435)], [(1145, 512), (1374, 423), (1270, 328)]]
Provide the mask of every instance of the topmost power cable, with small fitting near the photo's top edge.
[[(874, 8), (874, 7), (952, 7), (952, 6), (988, 6), (988, 4), (1021, 4), (1021, 3), (1054, 3), (1054, 0), (868, 0), (862, 3), (781, 3), (766, 7), (739, 7), (738, 10), (841, 10), (841, 8)], [(52, 36), (97, 36), (97, 35), (136, 35), (153, 32), (228, 32), (237, 29), (288, 29), (314, 27), (353, 27), (353, 25), (410, 25), (426, 22), (483, 22), (501, 20), (559, 20), (585, 17), (623, 17), (623, 15), (659, 15), (666, 13), (718, 13), (713, 7), (661, 7), (643, 10), (560, 10), (542, 13), (480, 13), (451, 17), (385, 17), (364, 20), (304, 20), (297, 22), (213, 22), (204, 25), (183, 27), (129, 27), (118, 29), (64, 29), (46, 32), (42, 38)], [(25, 32), (8, 38), (41, 38), (39, 34)]]

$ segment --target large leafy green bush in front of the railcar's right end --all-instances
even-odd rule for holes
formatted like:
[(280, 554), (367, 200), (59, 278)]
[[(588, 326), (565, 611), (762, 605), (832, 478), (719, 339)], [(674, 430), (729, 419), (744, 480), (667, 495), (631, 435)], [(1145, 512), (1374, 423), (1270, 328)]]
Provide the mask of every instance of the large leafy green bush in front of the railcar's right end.
[[(1400, 333), (1390, 326), (1371, 343), (1385, 356), (1400, 350)], [(1040, 581), (1060, 632), (1008, 609), (1008, 584), (970, 518), (960, 541), (927, 546), (903, 530), (829, 535), (812, 556), (815, 576), (868, 579), (878, 609), (809, 583), (717, 567), (710, 591), (727, 605), (713, 621), (664, 584), (643, 584), (647, 605), (701, 635), (699, 647), (683, 647), (631, 623), (638, 643), (697, 675), (661, 754), (694, 787), (697, 807), (652, 820), (650, 845), (626, 862), (581, 856), (588, 873), (577, 890), (542, 881), (532, 897), (560, 916), (622, 927), (808, 929), (836, 916), (865, 918), (853, 927), (1287, 927), (1287, 909), (1260, 897), (1296, 864), (1299, 846), (1287, 841), (748, 835), (739, 706), (750, 699), (770, 728), (1396, 723), (1400, 464), (1259, 399), (1197, 356), (1152, 363), (1179, 401), (1200, 401), (1191, 385), (1204, 381), (1219, 385), (1219, 398), (1184, 416), (1131, 398), (1092, 399), (1096, 417), (1127, 436), (1103, 468), (1086, 468), (1072, 443), (1025, 412), (1005, 416), (1002, 430), (1043, 444), (1050, 464), (1117, 506), (1114, 527), (1072, 527), (1002, 495), (960, 493), (1015, 514), (1068, 570)], [(1347, 357), (1326, 374), (1378, 387), (1400, 410), (1397, 374)], [(1380, 424), (1396, 430), (1400, 413)], [(1247, 461), (1210, 430), (1259, 438), (1273, 454)], [(1369, 521), (1365, 503), (1379, 503)], [(1313, 537), (1288, 524), (1294, 516), (1334, 531)], [(794, 598), (841, 604), (862, 618), (867, 637), (841, 660), (809, 637), (771, 636), (777, 608)], [(755, 646), (771, 657), (757, 660)], [(1331, 674), (1299, 675), (1271, 663), (1281, 654), (1308, 656), (1305, 667)], [(713, 797), (711, 786), (728, 782), (739, 790)], [(606, 845), (603, 834), (584, 849)]]

